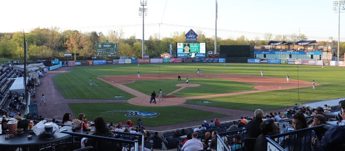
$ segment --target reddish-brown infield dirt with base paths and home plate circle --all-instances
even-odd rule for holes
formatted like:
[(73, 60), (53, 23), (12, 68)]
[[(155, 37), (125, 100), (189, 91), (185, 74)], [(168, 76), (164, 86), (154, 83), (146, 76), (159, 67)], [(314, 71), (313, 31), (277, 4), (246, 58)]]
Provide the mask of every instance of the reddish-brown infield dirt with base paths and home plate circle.
[[(257, 90), (223, 93), (223, 94), (201, 95), (201, 96), (183, 97), (183, 98), (170, 96), (171, 94), (176, 93), (177, 91), (183, 89), (184, 87), (196, 86), (193, 84), (193, 81), (189, 80), (189, 82), (191, 82), (190, 84), (188, 85), (178, 84), (177, 86), (182, 86), (182, 88), (179, 88), (163, 96), (164, 101), (160, 101), (160, 102), (157, 101), (157, 104), (155, 103), (150, 104), (149, 95), (146, 95), (142, 92), (126, 87), (125, 85), (122, 85), (124, 83), (135, 82), (136, 80), (175, 79), (175, 78), (177, 79), (179, 75), (181, 77), (188, 76), (188, 78), (203, 78), (203, 79), (216, 78), (216, 79), (244, 82), (244, 83), (249, 83), (249, 84), (256, 84), (254, 88)], [(289, 83), (287, 83), (285, 78), (261, 77), (261, 76), (254, 76), (254, 75), (237, 75), (237, 74), (203, 74), (203, 75), (204, 75), (203, 77), (200, 77), (197, 74), (191, 74), (191, 73), (190, 74), (141, 74), (140, 78), (138, 78), (137, 75), (118, 75), (118, 76), (99, 77), (99, 79), (105, 82), (108, 82), (114, 85), (115, 87), (118, 87), (122, 90), (125, 90), (126, 92), (129, 92), (137, 96), (136, 98), (129, 99), (128, 103), (134, 104), (134, 105), (154, 106), (154, 107), (180, 105), (180, 104), (185, 103), (186, 100), (188, 99), (213, 98), (213, 97), (223, 97), (223, 96), (229, 96), (229, 95), (273, 91), (273, 90), (293, 89), (297, 87), (300, 87), (300, 88), (311, 87), (313, 84), (312, 82), (306, 82), (306, 81), (300, 81), (300, 80), (297, 81), (293, 79), (289, 79)], [(158, 97), (156, 98), (156, 100), (158, 100)]]

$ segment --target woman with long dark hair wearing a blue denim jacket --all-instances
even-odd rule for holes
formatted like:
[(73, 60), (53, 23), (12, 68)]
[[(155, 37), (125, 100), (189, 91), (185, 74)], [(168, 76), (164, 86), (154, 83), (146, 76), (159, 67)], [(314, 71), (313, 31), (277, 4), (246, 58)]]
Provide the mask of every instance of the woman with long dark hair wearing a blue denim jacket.
[[(307, 122), (302, 112), (297, 112), (292, 116), (292, 126), (287, 126), (282, 133), (289, 132), (290, 129), (299, 130), (307, 128)], [(286, 151), (309, 151), (311, 150), (311, 138), (315, 137), (315, 132), (305, 131), (303, 133), (287, 135), (279, 138), (279, 145), (285, 147)]]

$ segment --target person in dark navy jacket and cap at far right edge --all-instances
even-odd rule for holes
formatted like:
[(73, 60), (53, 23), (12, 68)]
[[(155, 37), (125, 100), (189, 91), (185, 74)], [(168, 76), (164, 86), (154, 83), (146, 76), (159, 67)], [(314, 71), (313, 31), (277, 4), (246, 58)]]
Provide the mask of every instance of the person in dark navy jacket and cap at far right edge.
[[(345, 101), (341, 104), (341, 115), (342, 119), (345, 119)], [(342, 120), (339, 124), (333, 126), (326, 131), (324, 137), (315, 138), (312, 137), (312, 149), (317, 150), (330, 150), (330, 151), (341, 151), (344, 150), (345, 142), (345, 120)], [(321, 139), (318, 142), (318, 139)]]

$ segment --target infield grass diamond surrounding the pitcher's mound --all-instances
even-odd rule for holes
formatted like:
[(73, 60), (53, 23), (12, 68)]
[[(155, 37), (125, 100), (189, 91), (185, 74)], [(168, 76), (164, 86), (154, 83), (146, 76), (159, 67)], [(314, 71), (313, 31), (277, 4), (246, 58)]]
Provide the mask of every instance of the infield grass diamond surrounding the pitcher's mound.
[[(125, 84), (127, 87), (151, 95), (152, 91), (158, 92), (162, 89), (162, 94), (166, 95), (172, 91), (175, 91), (181, 87), (177, 87), (176, 84), (185, 84), (185, 81), (177, 81), (176, 79), (157, 79), (157, 80), (140, 80), (133, 83)], [(189, 78), (189, 83), (200, 84), (199, 87), (187, 87), (178, 91), (172, 96), (176, 97), (191, 97), (198, 95), (210, 95), (231, 93), (240, 91), (255, 90), (253, 87), (255, 84), (248, 84), (243, 82), (229, 81), (223, 79), (200, 79)]]

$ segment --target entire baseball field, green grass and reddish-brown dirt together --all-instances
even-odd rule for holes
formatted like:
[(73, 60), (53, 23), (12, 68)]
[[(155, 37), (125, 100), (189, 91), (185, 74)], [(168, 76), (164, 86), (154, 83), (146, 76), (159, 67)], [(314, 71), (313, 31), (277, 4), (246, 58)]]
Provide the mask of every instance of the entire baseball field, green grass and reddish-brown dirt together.
[[(198, 68), (203, 71), (203, 77), (197, 75)], [(54, 76), (53, 81), (59, 95), (66, 100), (60, 100), (61, 103), (68, 103), (75, 116), (82, 112), (89, 120), (103, 116), (109, 122), (122, 123), (139, 117), (144, 125), (151, 127), (216, 117), (238, 119), (240, 115), (253, 114), (258, 108), (282, 111), (295, 103), (345, 96), (345, 68), (342, 67), (142, 63), (139, 67), (137, 64), (115, 64), (65, 69), (67, 71)], [(264, 72), (263, 77), (260, 70)], [(141, 78), (137, 76), (138, 71)], [(178, 75), (181, 81), (177, 81)], [(189, 77), (188, 85), (186, 76)], [(90, 78), (92, 86), (89, 86)], [(313, 80), (317, 83), (315, 90), (312, 89)], [(164, 100), (160, 102), (159, 89), (162, 89)], [(153, 91), (157, 94), (157, 104), (149, 103)]]

